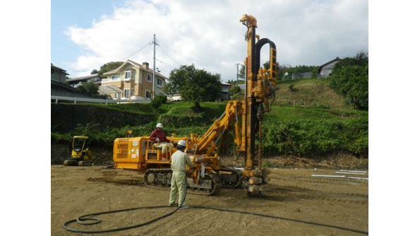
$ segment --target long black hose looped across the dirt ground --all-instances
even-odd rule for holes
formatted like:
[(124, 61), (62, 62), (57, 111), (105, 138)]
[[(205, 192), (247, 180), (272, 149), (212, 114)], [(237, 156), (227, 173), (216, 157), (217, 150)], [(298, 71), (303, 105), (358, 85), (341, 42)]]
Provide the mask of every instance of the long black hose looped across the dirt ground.
[[(186, 184), (186, 187), (187, 187), (188, 184), (187, 184), (186, 178), (185, 178), (185, 184)], [(109, 230), (78, 230), (78, 229), (75, 229), (75, 228), (69, 228), (67, 226), (67, 225), (69, 225), (71, 223), (74, 223), (74, 222), (77, 222), (81, 225), (96, 225), (96, 224), (101, 222), (101, 220), (98, 219), (98, 218), (88, 218), (88, 217), (92, 217), (92, 216), (100, 216), (100, 215), (104, 215), (104, 214), (117, 213), (117, 212), (122, 212), (122, 211), (136, 211), (136, 210), (140, 210), (140, 209), (169, 208), (169, 207), (172, 207), (172, 206), (145, 206), (145, 207), (127, 208), (127, 209), (121, 209), (121, 210), (115, 210), (115, 211), (103, 211), (103, 212), (100, 212), (100, 213), (92, 213), (92, 214), (88, 214), (88, 215), (84, 215), (84, 216), (79, 216), (78, 218), (76, 218), (74, 220), (68, 220), (68, 221), (64, 222), (62, 226), (63, 226), (64, 229), (66, 229), (68, 231), (82, 232), (82, 233), (116, 232), (116, 231), (121, 231), (121, 230), (129, 230), (129, 229), (132, 229), (132, 228), (139, 228), (139, 227), (142, 227), (142, 226), (145, 226), (145, 225), (150, 225), (151, 223), (154, 223), (157, 220), (162, 220), (163, 218), (167, 218), (168, 216), (171, 216), (176, 211), (178, 211), (179, 208), (181, 208), (185, 199), (186, 199), (186, 191), (185, 191), (184, 199), (182, 200), (181, 204), (179, 204), (179, 206), (174, 211), (166, 213), (163, 216), (154, 218), (152, 220), (146, 221), (145, 223), (140, 223), (138, 225), (131, 225), (131, 226), (123, 227), (123, 228), (114, 228), (114, 229), (109, 229)], [(231, 210), (231, 209), (214, 208), (214, 207), (208, 207), (208, 206), (190, 206), (190, 208), (203, 209), (203, 210), (226, 211), (226, 212), (232, 212), (232, 213), (241, 213), (241, 214), (261, 216), (261, 217), (266, 217), (266, 218), (289, 220), (289, 221), (293, 221), (293, 222), (297, 222), (297, 223), (306, 223), (306, 224), (309, 224), (309, 225), (317, 225), (317, 226), (323, 226), (323, 227), (328, 227), (328, 228), (335, 228), (335, 229), (338, 229), (338, 230), (347, 230), (347, 231), (350, 231), (350, 232), (359, 232), (359, 233), (364, 234), (364, 235), (369, 234), (368, 232), (363, 231), (363, 230), (354, 230), (354, 229), (351, 229), (351, 228), (344, 228), (344, 227), (341, 227), (341, 226), (327, 225), (327, 224), (323, 224), (323, 223), (316, 223), (316, 222), (311, 222), (311, 221), (306, 221), (306, 220), (297, 220), (297, 219), (285, 218), (285, 217), (281, 217), (281, 216), (270, 216), (270, 215), (265, 215), (265, 214), (261, 214), (261, 213), (252, 213), (252, 212), (248, 212), (248, 211), (236, 211), (236, 210)], [(88, 223), (86, 221), (92, 221), (92, 222)]]

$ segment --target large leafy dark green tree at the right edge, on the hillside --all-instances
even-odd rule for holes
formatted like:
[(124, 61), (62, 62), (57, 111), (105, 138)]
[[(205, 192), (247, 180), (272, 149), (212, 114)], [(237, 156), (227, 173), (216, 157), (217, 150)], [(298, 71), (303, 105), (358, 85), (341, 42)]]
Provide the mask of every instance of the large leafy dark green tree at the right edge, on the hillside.
[(359, 110), (368, 110), (368, 64), (368, 52), (362, 50), (337, 62), (331, 73), (330, 88)]

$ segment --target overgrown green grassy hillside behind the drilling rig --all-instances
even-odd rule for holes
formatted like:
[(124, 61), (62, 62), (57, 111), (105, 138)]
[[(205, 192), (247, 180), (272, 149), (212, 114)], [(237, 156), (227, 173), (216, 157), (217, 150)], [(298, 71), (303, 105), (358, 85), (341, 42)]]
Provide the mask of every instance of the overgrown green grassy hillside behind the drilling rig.
[[(325, 79), (306, 79), (277, 85), (276, 100), (263, 122), (266, 155), (313, 158), (347, 153), (368, 157), (368, 112), (350, 109), (328, 83)], [(157, 122), (164, 125), (168, 135), (201, 135), (220, 117), (226, 104), (200, 102), (198, 109), (193, 102), (172, 102), (157, 109), (150, 104), (52, 104), (52, 144), (85, 135), (90, 136), (93, 146), (112, 152), (114, 139), (125, 136), (128, 129), (134, 136), (148, 136)], [(228, 142), (232, 144), (232, 140)]]

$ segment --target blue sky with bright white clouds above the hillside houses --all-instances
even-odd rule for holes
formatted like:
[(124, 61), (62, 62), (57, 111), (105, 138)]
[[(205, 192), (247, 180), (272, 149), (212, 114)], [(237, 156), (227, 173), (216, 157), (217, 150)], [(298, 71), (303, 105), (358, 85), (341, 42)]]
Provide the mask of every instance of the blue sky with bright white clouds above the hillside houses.
[(247, 53), (244, 13), (257, 19), (260, 38), (275, 42), (280, 64), (320, 66), (368, 51), (366, 0), (52, 0), (51, 13), (51, 62), (70, 77), (109, 61), (152, 66), (155, 34), (156, 67), (164, 76), (194, 64), (222, 81), (236, 79), (236, 64)]

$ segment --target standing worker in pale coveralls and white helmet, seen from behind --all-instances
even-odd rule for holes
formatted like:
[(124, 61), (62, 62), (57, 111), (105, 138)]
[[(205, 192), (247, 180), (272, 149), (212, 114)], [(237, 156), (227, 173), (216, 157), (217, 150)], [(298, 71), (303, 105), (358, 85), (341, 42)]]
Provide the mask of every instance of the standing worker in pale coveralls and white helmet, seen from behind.
[(186, 198), (186, 169), (185, 166), (188, 164), (190, 167), (193, 167), (194, 164), (191, 162), (190, 158), (186, 153), (184, 153), (186, 148), (186, 141), (181, 140), (178, 142), (178, 150), (172, 154), (172, 180), (171, 180), (171, 194), (169, 195), (169, 206), (176, 206), (176, 192), (179, 193), (178, 203), (182, 204), (179, 209), (186, 209), (185, 198)]

